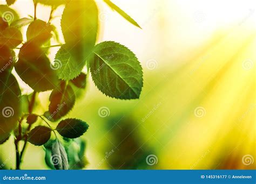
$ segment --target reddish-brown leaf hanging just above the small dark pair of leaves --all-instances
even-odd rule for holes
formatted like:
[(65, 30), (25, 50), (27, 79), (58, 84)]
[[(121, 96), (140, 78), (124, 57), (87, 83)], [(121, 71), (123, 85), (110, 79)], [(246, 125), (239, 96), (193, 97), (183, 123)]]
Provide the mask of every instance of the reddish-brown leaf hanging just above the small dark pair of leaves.
[(50, 119), (54, 121), (62, 118), (73, 108), (76, 101), (76, 96), (73, 89), (65, 83), (60, 84), (60, 87), (52, 90), (50, 95)]

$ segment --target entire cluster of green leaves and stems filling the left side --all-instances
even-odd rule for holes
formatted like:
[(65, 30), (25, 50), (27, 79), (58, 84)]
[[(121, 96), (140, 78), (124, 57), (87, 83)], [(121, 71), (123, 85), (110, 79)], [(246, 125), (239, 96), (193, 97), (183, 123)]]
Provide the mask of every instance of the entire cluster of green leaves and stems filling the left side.
[[(86, 87), (90, 75), (83, 70), (91, 72), (97, 88), (106, 96), (131, 100), (139, 98), (142, 91), (142, 67), (129, 48), (114, 41), (96, 44), (99, 12), (95, 1), (33, 0), (35, 15), (30, 18), (19, 18), (9, 7), (15, 2), (6, 0), (7, 5), (0, 5), (0, 144), (14, 136), (16, 169), (20, 168), (28, 143), (44, 148), (45, 162), (52, 169), (81, 169), (87, 161), (84, 158), (86, 144), (80, 136), (89, 125), (65, 116), (75, 105), (75, 90)], [(104, 2), (140, 27), (117, 5), (109, 0)], [(49, 22), (37, 19), (38, 3), (51, 6)], [(59, 42), (60, 33), (51, 19), (59, 5), (65, 5), (61, 18), (65, 44), (57, 45), (59, 50), (52, 63), (48, 49), (56, 46), (51, 44)], [(26, 25), (25, 39), (21, 28)], [(19, 49), (18, 59), (14, 49)], [(22, 95), (19, 78), (33, 93)], [(49, 108), (44, 115), (38, 115), (35, 107), (42, 103), (38, 93), (49, 90)], [(22, 149), (19, 141), (24, 143)]]

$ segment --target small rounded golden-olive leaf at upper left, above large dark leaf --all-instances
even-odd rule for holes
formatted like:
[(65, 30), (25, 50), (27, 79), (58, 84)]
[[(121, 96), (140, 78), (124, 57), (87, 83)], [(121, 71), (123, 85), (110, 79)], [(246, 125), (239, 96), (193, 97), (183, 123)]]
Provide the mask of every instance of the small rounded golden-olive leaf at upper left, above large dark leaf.
[(26, 39), (33, 41), (35, 44), (42, 45), (52, 37), (53, 28), (43, 20), (34, 20), (26, 31)]

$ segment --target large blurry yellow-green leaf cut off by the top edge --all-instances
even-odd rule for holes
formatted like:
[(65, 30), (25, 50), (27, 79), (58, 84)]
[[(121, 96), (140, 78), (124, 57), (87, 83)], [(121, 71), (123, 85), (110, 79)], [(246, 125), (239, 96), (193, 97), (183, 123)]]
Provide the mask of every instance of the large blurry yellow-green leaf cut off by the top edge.
[[(75, 58), (78, 68), (83, 68), (85, 61), (90, 59), (89, 56), (96, 43), (98, 31), (96, 3), (93, 0), (71, 0), (63, 11), (61, 27), (66, 48), (72, 48), (67, 50)], [(78, 73), (75, 77), (77, 75)]]

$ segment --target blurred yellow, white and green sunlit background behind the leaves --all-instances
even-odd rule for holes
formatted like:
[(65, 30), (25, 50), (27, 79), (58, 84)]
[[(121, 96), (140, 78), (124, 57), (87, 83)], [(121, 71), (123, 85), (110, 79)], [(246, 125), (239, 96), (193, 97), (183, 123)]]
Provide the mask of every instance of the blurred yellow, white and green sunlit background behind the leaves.
[[(116, 100), (89, 77), (68, 115), (90, 125), (85, 169), (255, 169), (256, 2), (112, 2), (142, 29), (97, 0), (98, 43), (129, 47), (142, 63), (144, 87), (139, 100)], [(30, 0), (12, 8), (20, 17), (33, 15)], [(59, 31), (63, 8), (52, 21)], [(37, 10), (47, 21), (50, 7)], [(52, 61), (57, 50), (50, 51)], [(44, 102), (48, 95), (39, 97)], [(12, 140), (0, 146), (6, 167), (14, 168), (14, 150)], [(48, 169), (41, 147), (29, 144), (24, 160), (22, 169)]]

